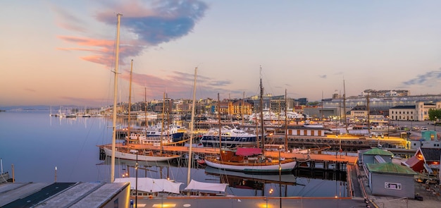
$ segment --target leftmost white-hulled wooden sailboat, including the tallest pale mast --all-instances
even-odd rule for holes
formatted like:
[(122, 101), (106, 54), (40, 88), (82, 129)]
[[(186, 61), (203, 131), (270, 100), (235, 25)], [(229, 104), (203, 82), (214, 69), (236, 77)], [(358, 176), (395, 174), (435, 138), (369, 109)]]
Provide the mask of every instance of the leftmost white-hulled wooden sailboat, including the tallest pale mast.
[[(115, 158), (119, 159), (130, 159), (130, 160), (139, 160), (139, 161), (168, 161), (170, 159), (175, 159), (180, 157), (180, 155), (175, 154), (163, 154), (162, 147), (159, 152), (153, 152), (151, 149), (148, 149), (146, 146), (139, 145), (136, 147), (135, 145), (130, 143), (130, 136), (127, 137), (128, 142), (124, 142), (123, 144), (118, 143), (118, 149), (116, 148), (116, 94), (117, 94), (117, 85), (118, 85), (118, 56), (119, 56), (119, 27), (120, 27), (120, 14), (118, 16), (118, 28), (117, 28), (117, 38), (116, 38), (116, 63), (115, 63), (115, 78), (114, 78), (114, 94), (113, 94), (113, 134), (112, 134), (112, 144), (111, 145), (98, 145), (100, 154), (105, 154), (106, 156), (111, 156), (111, 165), (114, 166)], [(133, 63), (133, 61), (132, 61)], [(133, 66), (133, 64), (132, 64)], [(132, 66), (130, 67), (130, 92), (131, 82), (132, 82)], [(130, 97), (130, 96), (129, 96)], [(130, 110), (129, 110), (130, 111)], [(130, 119), (130, 115), (129, 115)], [(130, 123), (129, 123), (129, 133), (130, 135)], [(162, 142), (160, 142), (162, 145)], [(111, 170), (111, 173), (114, 174), (114, 167)], [(113, 181), (114, 177), (111, 177), (111, 181)]]

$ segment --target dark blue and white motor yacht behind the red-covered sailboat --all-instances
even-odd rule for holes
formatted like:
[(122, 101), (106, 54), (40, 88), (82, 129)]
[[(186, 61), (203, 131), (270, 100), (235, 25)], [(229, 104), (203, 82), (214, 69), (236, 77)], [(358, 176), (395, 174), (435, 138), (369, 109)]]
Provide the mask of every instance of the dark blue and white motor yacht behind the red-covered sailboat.
[[(219, 137), (221, 137), (221, 141), (219, 141)], [(202, 135), (200, 142), (204, 147), (219, 147), (220, 145), (225, 148), (234, 148), (242, 145), (256, 146), (257, 135), (237, 128), (231, 128), (230, 126), (222, 126), (221, 129), (211, 128)]]

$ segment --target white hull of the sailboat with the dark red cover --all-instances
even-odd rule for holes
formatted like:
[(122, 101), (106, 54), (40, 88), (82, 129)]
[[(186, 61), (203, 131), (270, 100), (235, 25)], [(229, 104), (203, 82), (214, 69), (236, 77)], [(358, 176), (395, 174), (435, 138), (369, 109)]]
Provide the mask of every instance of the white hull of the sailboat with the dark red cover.
[(297, 161), (287, 160), (278, 163), (233, 163), (223, 162), (216, 159), (205, 159), (205, 164), (216, 169), (225, 169), (228, 171), (240, 171), (247, 173), (278, 173), (279, 165), (282, 172), (292, 171)]

